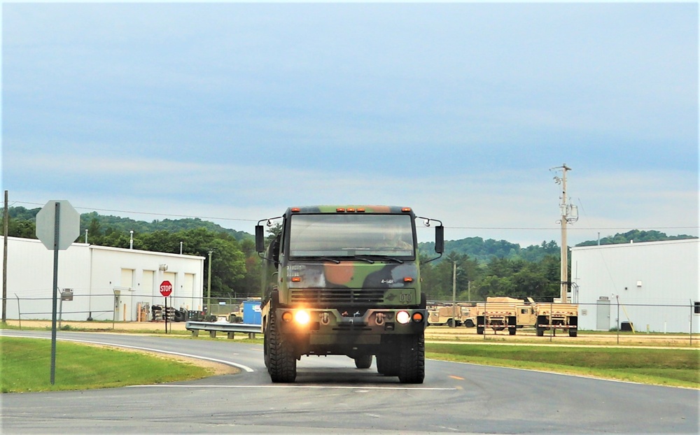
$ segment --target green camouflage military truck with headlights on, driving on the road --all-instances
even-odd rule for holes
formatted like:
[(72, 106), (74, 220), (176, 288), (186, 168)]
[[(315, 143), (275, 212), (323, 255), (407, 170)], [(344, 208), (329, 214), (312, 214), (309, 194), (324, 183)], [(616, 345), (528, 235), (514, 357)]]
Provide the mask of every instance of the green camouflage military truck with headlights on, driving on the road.
[[(428, 312), (416, 219), (433, 221), (406, 207), (312, 206), (258, 222), (263, 354), (272, 382), (293, 382), (303, 355), (346, 355), (360, 369), (376, 357), (379, 373), (423, 383)], [(262, 222), (273, 220), (281, 220), (280, 231), (265, 248)], [(442, 255), (444, 229), (435, 222)]]

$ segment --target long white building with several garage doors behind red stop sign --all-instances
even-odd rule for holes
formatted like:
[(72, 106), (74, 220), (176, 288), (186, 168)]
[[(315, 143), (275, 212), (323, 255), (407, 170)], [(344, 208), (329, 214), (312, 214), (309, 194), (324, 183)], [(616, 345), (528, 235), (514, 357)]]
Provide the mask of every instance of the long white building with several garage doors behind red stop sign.
[[(2, 265), (0, 264), (0, 269)], [(8, 319), (52, 318), (53, 250), (31, 238), (8, 237)], [(58, 253), (57, 303), (62, 320), (151, 320), (165, 305), (160, 285), (172, 283), (167, 306), (202, 308), (204, 257), (73, 243)]]

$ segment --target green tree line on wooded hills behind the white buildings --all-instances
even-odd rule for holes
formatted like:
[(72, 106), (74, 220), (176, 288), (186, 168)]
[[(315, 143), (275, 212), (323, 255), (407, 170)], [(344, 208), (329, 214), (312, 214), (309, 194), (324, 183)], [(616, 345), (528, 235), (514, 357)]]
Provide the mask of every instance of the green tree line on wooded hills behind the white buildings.
[[(10, 207), (8, 236), (36, 238), (39, 210)], [(204, 257), (205, 283), (211, 252), (212, 297), (257, 297), (260, 294), (260, 258), (255, 252), (253, 236), (245, 231), (225, 229), (198, 218), (143, 222), (95, 212), (80, 215), (80, 236), (76, 242), (85, 241), (85, 230), (87, 241), (93, 245), (129, 248), (130, 231), (134, 231), (134, 249), (172, 254), (179, 254), (182, 249), (185, 255)], [(274, 227), (271, 232), (274, 233)], [(693, 237), (632, 230), (577, 246), (679, 238)], [(433, 243), (419, 244), (423, 261), (432, 258), (433, 248)], [(446, 241), (445, 252), (442, 258), (421, 267), (423, 291), (429, 300), (451, 301), (453, 292), (458, 301), (483, 301), (489, 296), (532, 297), (536, 301), (559, 297), (560, 250), (554, 241), (521, 248), (508, 241), (470, 237)]]

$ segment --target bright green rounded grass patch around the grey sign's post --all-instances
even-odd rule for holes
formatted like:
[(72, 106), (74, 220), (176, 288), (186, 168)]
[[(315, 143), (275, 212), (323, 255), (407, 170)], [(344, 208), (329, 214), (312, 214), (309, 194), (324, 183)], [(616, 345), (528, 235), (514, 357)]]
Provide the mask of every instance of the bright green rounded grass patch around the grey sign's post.
[(3, 393), (169, 383), (214, 373), (168, 357), (57, 341), (55, 383), (51, 385), (50, 340), (0, 337), (0, 350)]

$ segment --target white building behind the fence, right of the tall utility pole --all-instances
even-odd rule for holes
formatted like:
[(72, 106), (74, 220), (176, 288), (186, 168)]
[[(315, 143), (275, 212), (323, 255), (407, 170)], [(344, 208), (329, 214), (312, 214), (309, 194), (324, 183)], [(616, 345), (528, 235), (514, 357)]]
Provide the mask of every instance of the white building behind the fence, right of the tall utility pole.
[(699, 333), (699, 248), (697, 238), (571, 248), (580, 329), (629, 322), (641, 332)]

